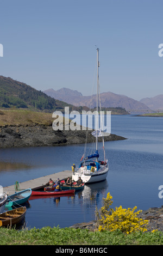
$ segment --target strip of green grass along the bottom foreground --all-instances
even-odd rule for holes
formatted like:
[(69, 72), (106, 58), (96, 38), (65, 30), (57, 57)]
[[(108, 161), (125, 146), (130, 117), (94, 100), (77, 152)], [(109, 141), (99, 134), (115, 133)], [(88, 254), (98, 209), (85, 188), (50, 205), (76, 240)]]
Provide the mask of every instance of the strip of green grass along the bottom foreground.
[(90, 232), (87, 229), (50, 228), (16, 229), (0, 228), (0, 245), (162, 245), (162, 232), (136, 232), (125, 235), (121, 231)]

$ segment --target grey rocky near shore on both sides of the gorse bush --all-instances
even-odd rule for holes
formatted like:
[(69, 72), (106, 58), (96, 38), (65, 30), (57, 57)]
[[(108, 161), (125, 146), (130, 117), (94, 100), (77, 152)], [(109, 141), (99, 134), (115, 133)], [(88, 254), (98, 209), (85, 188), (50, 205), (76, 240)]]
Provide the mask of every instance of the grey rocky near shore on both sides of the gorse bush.
[[(149, 208), (148, 210), (143, 210), (139, 215), (143, 220), (148, 220), (147, 231), (157, 229), (158, 231), (163, 231), (163, 205), (160, 208)], [(81, 228), (88, 229), (90, 231), (97, 231), (96, 221), (77, 223), (72, 225), (70, 228)]]

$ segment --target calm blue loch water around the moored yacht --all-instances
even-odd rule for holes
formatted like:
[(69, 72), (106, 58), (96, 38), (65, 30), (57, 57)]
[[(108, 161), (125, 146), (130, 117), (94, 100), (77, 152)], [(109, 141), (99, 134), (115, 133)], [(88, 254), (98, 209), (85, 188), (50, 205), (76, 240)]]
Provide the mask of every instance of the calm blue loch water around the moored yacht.
[[(163, 118), (112, 115), (111, 133), (127, 139), (105, 143), (109, 173), (105, 181), (86, 185), (74, 197), (39, 197), (26, 204), (26, 226), (69, 227), (95, 219), (96, 206), (111, 193), (113, 207), (135, 205), (148, 209), (163, 205), (158, 187), (163, 185)], [(12, 185), (79, 164), (85, 145), (0, 149), (0, 185)], [(89, 144), (88, 149), (91, 148)], [(102, 145), (99, 145), (99, 154)]]

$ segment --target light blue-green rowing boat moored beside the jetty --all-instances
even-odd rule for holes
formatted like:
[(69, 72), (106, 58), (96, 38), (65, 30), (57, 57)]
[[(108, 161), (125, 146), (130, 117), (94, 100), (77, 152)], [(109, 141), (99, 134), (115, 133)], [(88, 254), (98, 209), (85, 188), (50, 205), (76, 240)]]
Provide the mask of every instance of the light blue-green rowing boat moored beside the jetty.
[(27, 202), (31, 194), (32, 194), (31, 188), (28, 188), (27, 190), (15, 192), (15, 194), (11, 194), (11, 196), (8, 196), (8, 200), (7, 200), (7, 203), (5, 204), (5, 207), (10, 207), (13, 205), (22, 205)]

